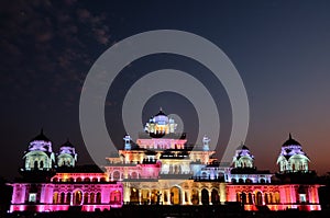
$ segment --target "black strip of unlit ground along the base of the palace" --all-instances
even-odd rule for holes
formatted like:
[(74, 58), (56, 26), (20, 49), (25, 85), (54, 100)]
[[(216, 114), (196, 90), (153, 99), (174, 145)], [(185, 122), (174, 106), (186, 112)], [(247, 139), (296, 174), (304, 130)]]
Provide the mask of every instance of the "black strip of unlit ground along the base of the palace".
[(121, 209), (111, 209), (109, 211), (95, 211), (82, 213), (77, 208), (73, 208), (68, 211), (57, 213), (14, 213), (2, 214), (4, 218), (108, 218), (108, 217), (199, 217), (199, 218), (213, 218), (213, 217), (265, 217), (265, 218), (315, 218), (315, 217), (330, 217), (330, 210), (322, 211), (298, 211), (298, 210), (285, 210), (285, 211), (244, 211), (241, 207), (237, 206), (123, 206)]

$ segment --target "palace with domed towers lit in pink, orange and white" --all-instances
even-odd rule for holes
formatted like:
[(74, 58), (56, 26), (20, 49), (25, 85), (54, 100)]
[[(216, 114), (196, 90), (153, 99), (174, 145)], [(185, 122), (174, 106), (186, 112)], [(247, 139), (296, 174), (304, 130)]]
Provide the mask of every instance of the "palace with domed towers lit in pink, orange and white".
[(318, 187), (310, 181), (309, 158), (299, 142), (283, 144), (279, 171), (260, 171), (244, 145), (231, 164), (217, 162), (209, 138), (187, 146), (185, 134), (162, 110), (145, 124), (133, 142), (125, 136), (124, 149), (107, 158), (103, 171), (76, 165), (77, 153), (67, 141), (55, 153), (41, 133), (25, 151), (22, 180), (11, 183), (10, 211), (54, 211), (76, 207), (85, 211), (134, 205), (226, 205), (237, 202), (246, 210), (320, 210)]

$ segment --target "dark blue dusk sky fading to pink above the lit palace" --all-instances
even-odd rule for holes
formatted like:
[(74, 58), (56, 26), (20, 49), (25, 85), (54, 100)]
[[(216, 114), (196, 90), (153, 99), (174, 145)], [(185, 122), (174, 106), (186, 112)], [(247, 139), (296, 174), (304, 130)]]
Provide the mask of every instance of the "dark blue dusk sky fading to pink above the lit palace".
[[(245, 145), (258, 169), (277, 170), (280, 146), (292, 133), (311, 169), (330, 171), (329, 1), (11, 0), (0, 2), (0, 175), (18, 175), (23, 152), (41, 128), (55, 151), (69, 138), (79, 163), (91, 163), (79, 127), (79, 96), (89, 69), (114, 43), (163, 28), (198, 34), (234, 64), (250, 103)], [(114, 80), (106, 119), (116, 129), (110, 133), (116, 145), (123, 145), (121, 106), (130, 85), (163, 68), (189, 72), (209, 89), (221, 117), (219, 158), (231, 129), (228, 95), (204, 66), (175, 55), (135, 60)], [(154, 95), (142, 122), (160, 106), (179, 114), (188, 138), (196, 139), (198, 118), (189, 101), (175, 93)]]

